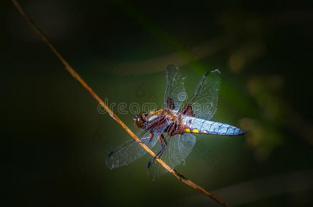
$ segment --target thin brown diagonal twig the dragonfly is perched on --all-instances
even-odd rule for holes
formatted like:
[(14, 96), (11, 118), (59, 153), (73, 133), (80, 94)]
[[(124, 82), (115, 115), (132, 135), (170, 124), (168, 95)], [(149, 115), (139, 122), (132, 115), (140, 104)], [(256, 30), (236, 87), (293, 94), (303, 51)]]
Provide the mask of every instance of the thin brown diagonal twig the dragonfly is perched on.
[[(17, 3), (15, 0), (11, 0), (13, 4), (15, 5), (16, 9), (25, 17), (27, 22), (30, 24), (30, 26), (35, 30), (35, 32), (42, 38), (42, 40), (48, 45), (48, 47), (52, 50), (52, 52), (56, 55), (56, 57), (65, 65), (66, 70), (77, 80), (79, 81), (82, 86), (89, 92), (89, 94), (101, 104), (101, 106), (110, 114), (110, 116), (118, 122), (127, 133), (136, 141), (139, 141), (139, 138), (122, 122), (122, 120), (116, 116), (116, 114), (104, 103), (104, 101), (94, 93), (94, 91), (90, 88), (90, 86), (81, 78), (79, 74), (76, 73), (76, 71), (70, 66), (70, 64), (62, 57), (60, 53), (53, 47), (53, 45), (50, 43), (50, 41), (47, 39), (47, 37), (44, 35), (44, 33), (38, 28), (35, 23), (25, 14), (21, 6)], [(154, 152), (147, 147), (144, 143), (138, 142), (151, 156), (155, 156)], [(182, 182), (186, 183), (188, 186), (191, 188), (194, 188), (195, 190), (201, 192), (204, 195), (207, 195), (208, 197), (212, 198), (216, 202), (224, 205), (224, 206), (229, 206), (227, 205), (224, 201), (220, 200), (216, 196), (212, 195), (210, 192), (206, 191), (204, 188), (198, 186), (191, 180), (187, 179), (184, 177), (182, 174), (177, 172), (175, 169), (172, 169), (170, 166), (168, 166), (161, 158), (156, 156), (157, 161), (169, 172), (171, 172), (176, 178), (181, 180)]]

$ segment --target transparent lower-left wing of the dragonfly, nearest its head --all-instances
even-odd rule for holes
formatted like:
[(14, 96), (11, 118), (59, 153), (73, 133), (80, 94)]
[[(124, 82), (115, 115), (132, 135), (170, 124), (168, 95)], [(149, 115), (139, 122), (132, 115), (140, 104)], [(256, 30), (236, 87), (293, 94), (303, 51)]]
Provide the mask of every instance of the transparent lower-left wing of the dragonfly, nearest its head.
[[(142, 142), (149, 148), (152, 148), (157, 142), (158, 136), (162, 134), (167, 126), (168, 125), (164, 125), (153, 130), (141, 129), (136, 133), (136, 136), (140, 139), (139, 142)], [(108, 166), (108, 168), (113, 169), (128, 165), (135, 159), (138, 159), (145, 155), (147, 151), (142, 146), (140, 146), (139, 142), (131, 138), (124, 144), (111, 151), (108, 154), (106, 161), (106, 165)]]

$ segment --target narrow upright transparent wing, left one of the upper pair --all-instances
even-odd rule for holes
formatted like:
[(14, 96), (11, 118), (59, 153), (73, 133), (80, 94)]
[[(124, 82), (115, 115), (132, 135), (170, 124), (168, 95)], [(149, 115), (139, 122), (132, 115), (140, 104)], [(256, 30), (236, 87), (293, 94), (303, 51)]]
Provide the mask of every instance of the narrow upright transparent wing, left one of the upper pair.
[[(182, 102), (187, 98), (183, 78), (177, 66), (168, 65), (166, 67), (166, 90), (164, 106), (179, 110)], [(172, 102), (169, 100), (171, 99)], [(173, 104), (172, 104), (173, 103)]]

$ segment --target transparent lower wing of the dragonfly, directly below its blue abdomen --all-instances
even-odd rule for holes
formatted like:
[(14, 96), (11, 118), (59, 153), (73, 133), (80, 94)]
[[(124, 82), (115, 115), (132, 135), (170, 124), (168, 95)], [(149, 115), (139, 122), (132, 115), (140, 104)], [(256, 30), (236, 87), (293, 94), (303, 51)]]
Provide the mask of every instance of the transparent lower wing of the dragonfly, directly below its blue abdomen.
[[(175, 134), (167, 136), (164, 142), (155, 154), (171, 168), (174, 168), (181, 164), (191, 152), (195, 144), (195, 136), (190, 133)], [(158, 179), (167, 172), (154, 157), (151, 158), (148, 164), (148, 173), (152, 180)]]

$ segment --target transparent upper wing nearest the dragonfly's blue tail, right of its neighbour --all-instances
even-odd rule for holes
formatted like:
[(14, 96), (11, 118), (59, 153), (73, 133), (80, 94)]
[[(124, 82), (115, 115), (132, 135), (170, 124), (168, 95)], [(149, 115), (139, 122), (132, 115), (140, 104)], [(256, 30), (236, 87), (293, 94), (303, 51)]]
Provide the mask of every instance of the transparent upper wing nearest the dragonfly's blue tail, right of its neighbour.
[(221, 76), (218, 70), (206, 72), (188, 104), (192, 106), (195, 117), (210, 120), (216, 113)]

